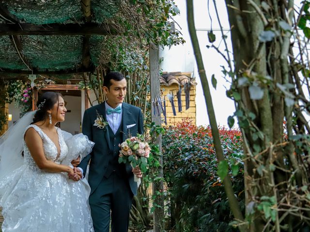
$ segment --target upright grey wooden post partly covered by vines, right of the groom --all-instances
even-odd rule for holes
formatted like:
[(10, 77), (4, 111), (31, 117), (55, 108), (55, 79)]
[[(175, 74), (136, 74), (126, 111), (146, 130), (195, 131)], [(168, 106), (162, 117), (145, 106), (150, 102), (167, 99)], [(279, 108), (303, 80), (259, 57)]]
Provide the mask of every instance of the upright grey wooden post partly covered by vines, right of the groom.
[[(159, 82), (159, 55), (158, 55), (158, 47), (154, 45), (150, 45), (150, 78), (151, 78), (151, 102), (156, 97), (160, 97), (160, 82)], [(161, 117), (160, 115), (154, 112), (154, 108), (151, 107), (152, 113), (152, 122), (155, 122), (155, 125), (161, 125)], [(156, 136), (156, 135), (155, 135)], [(158, 167), (158, 177), (163, 177), (163, 158), (162, 158), (162, 144), (161, 144), (161, 135), (153, 138), (155, 143), (159, 146), (160, 158)], [(153, 183), (153, 193), (156, 192), (163, 193), (164, 191), (164, 183), (163, 181), (156, 181)], [(164, 196), (157, 195), (154, 203), (159, 207), (155, 207), (154, 211), (154, 232), (162, 232), (164, 231)]]

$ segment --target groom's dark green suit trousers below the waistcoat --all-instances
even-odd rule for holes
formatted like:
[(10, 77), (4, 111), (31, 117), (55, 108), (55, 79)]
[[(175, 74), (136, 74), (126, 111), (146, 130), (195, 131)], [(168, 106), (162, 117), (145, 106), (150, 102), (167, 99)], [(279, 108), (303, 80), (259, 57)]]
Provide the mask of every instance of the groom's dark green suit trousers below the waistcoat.
[(89, 197), (95, 232), (127, 232), (133, 193), (128, 180), (113, 172)]

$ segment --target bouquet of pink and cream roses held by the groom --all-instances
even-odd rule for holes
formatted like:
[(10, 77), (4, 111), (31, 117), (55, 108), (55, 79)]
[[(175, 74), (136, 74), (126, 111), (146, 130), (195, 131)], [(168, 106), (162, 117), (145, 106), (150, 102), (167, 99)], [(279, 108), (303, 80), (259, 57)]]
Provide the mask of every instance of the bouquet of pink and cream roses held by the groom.
[[(133, 168), (139, 166), (142, 173), (146, 172), (147, 158), (150, 157), (151, 147), (145, 142), (143, 135), (126, 139), (119, 145), (121, 147), (119, 163), (129, 163)], [(135, 176), (135, 181), (140, 184), (140, 178)]]

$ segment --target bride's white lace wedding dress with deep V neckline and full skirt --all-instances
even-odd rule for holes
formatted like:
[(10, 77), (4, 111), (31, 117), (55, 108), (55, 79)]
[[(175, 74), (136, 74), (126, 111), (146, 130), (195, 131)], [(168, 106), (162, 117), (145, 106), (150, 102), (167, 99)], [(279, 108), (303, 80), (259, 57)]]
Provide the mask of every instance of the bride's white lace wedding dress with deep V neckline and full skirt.
[[(30, 127), (41, 136), (47, 160), (55, 163), (67, 160), (66, 165), (70, 165), (73, 159), (65, 159), (70, 152), (61, 129), (57, 129), (61, 147), (58, 156), (56, 145), (49, 137), (36, 125), (28, 126), (26, 131)], [(79, 135), (71, 147), (83, 149), (86, 145), (81, 144), (79, 139), (85, 136)], [(0, 178), (0, 206), (4, 217), (2, 232), (92, 232), (87, 181), (74, 182), (68, 179), (66, 173), (40, 170), (25, 142), (23, 150), (22, 166)]]

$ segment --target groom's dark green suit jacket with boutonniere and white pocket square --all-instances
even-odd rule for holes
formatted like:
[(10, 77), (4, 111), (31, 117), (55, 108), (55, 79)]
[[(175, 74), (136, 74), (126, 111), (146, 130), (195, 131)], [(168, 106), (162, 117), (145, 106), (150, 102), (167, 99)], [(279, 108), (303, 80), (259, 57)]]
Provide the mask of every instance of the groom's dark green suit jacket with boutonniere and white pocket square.
[[(109, 152), (113, 150), (110, 144), (108, 126), (104, 129), (99, 129), (93, 126), (95, 119), (97, 118), (97, 112), (103, 116), (105, 121), (106, 117), (106, 107), (105, 103), (95, 105), (84, 112), (82, 132), (87, 135), (88, 138), (95, 143), (93, 146), (93, 151), (87, 155), (78, 167), (83, 169), (83, 173), (86, 174), (87, 165), (90, 161), (88, 182), (91, 186), (91, 194), (98, 187), (101, 182), (105, 172), (108, 168), (109, 159), (113, 153)], [(123, 142), (127, 139), (128, 134), (131, 136), (136, 136), (137, 133), (143, 134), (143, 116), (141, 109), (127, 104), (122, 104), (122, 121), (121, 133), (123, 134)], [(136, 124), (127, 129), (128, 125)], [(124, 178), (128, 179), (131, 191), (134, 195), (137, 195), (137, 183), (134, 181), (134, 175), (132, 173), (132, 168), (130, 165), (126, 165), (126, 174)]]

